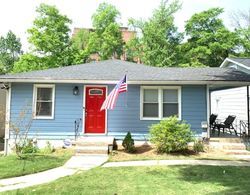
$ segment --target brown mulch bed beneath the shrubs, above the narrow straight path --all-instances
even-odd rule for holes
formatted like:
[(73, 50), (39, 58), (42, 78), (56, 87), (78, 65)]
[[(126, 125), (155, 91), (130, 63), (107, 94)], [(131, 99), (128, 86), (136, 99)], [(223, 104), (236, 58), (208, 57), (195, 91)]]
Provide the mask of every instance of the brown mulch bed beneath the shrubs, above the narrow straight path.
[(109, 156), (109, 162), (119, 161), (134, 161), (134, 160), (185, 160), (185, 159), (200, 159), (200, 160), (238, 160), (220, 152), (201, 152), (199, 154), (193, 151), (182, 153), (158, 154), (156, 149), (151, 145), (136, 146), (135, 153), (127, 153), (122, 147)]

